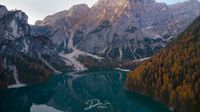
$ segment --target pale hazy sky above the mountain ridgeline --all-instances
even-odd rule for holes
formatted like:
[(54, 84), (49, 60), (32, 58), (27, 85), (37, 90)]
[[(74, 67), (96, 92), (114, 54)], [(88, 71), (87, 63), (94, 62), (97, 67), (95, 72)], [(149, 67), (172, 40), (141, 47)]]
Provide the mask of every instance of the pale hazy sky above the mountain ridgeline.
[[(86, 3), (91, 7), (97, 0), (0, 0), (1, 5), (10, 9), (23, 10), (29, 16), (29, 23), (34, 24), (36, 20), (41, 20), (47, 15), (58, 11), (67, 10), (75, 4)], [(186, 0), (156, 0), (173, 4)]]

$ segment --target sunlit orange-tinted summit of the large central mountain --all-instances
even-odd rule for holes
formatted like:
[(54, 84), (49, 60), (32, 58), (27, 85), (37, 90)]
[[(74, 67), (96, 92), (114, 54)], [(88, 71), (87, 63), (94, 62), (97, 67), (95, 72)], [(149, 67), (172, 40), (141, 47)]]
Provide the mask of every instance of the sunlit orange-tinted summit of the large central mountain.
[(157, 3), (155, 0), (99, 0), (91, 8), (90, 14), (95, 15), (93, 19), (99, 21), (98, 23), (105, 20), (113, 22), (121, 15), (131, 15), (138, 10), (157, 7), (167, 7), (167, 5)]

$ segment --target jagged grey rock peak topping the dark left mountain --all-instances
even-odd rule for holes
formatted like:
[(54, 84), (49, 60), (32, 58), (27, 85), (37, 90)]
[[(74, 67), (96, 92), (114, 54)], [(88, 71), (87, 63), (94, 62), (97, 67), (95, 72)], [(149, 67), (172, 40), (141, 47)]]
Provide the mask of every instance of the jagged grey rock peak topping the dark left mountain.
[(21, 10), (6, 12), (0, 18), (0, 42), (26, 36), (30, 31), (27, 21), (28, 16)]

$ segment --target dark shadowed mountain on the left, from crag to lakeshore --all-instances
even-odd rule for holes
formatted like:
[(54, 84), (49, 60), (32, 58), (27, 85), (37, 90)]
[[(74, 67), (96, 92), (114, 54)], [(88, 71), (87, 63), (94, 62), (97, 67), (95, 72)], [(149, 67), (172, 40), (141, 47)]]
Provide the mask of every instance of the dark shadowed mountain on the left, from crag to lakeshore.
[[(0, 6), (0, 11), (0, 87), (42, 82), (57, 73), (46, 61), (55, 61), (49, 38), (31, 35), (24, 12), (8, 11), (5, 6)], [(55, 62), (51, 64), (64, 68), (59, 60)]]

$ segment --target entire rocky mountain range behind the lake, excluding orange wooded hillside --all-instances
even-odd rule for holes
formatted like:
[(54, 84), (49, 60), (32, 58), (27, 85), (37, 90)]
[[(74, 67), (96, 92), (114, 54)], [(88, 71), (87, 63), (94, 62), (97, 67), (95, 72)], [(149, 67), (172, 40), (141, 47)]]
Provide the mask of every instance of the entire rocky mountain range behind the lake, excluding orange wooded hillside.
[(199, 14), (196, 0), (99, 0), (29, 25), (23, 11), (0, 5), (0, 85), (42, 82), (66, 70), (133, 68)]

